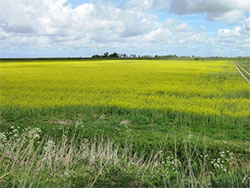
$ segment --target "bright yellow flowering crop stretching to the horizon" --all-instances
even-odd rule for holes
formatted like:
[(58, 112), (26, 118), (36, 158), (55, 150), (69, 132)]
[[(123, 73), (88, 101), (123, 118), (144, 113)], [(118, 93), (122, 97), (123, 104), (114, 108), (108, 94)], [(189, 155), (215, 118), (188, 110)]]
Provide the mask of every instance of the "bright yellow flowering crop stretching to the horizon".
[(118, 106), (250, 115), (250, 87), (230, 61), (0, 63), (1, 107)]

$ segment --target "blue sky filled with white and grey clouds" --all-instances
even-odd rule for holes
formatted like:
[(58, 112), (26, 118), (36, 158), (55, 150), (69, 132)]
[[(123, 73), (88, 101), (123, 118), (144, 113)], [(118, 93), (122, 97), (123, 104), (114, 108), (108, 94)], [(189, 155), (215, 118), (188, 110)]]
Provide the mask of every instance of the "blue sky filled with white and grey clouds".
[(0, 58), (250, 56), (250, 0), (0, 0)]

